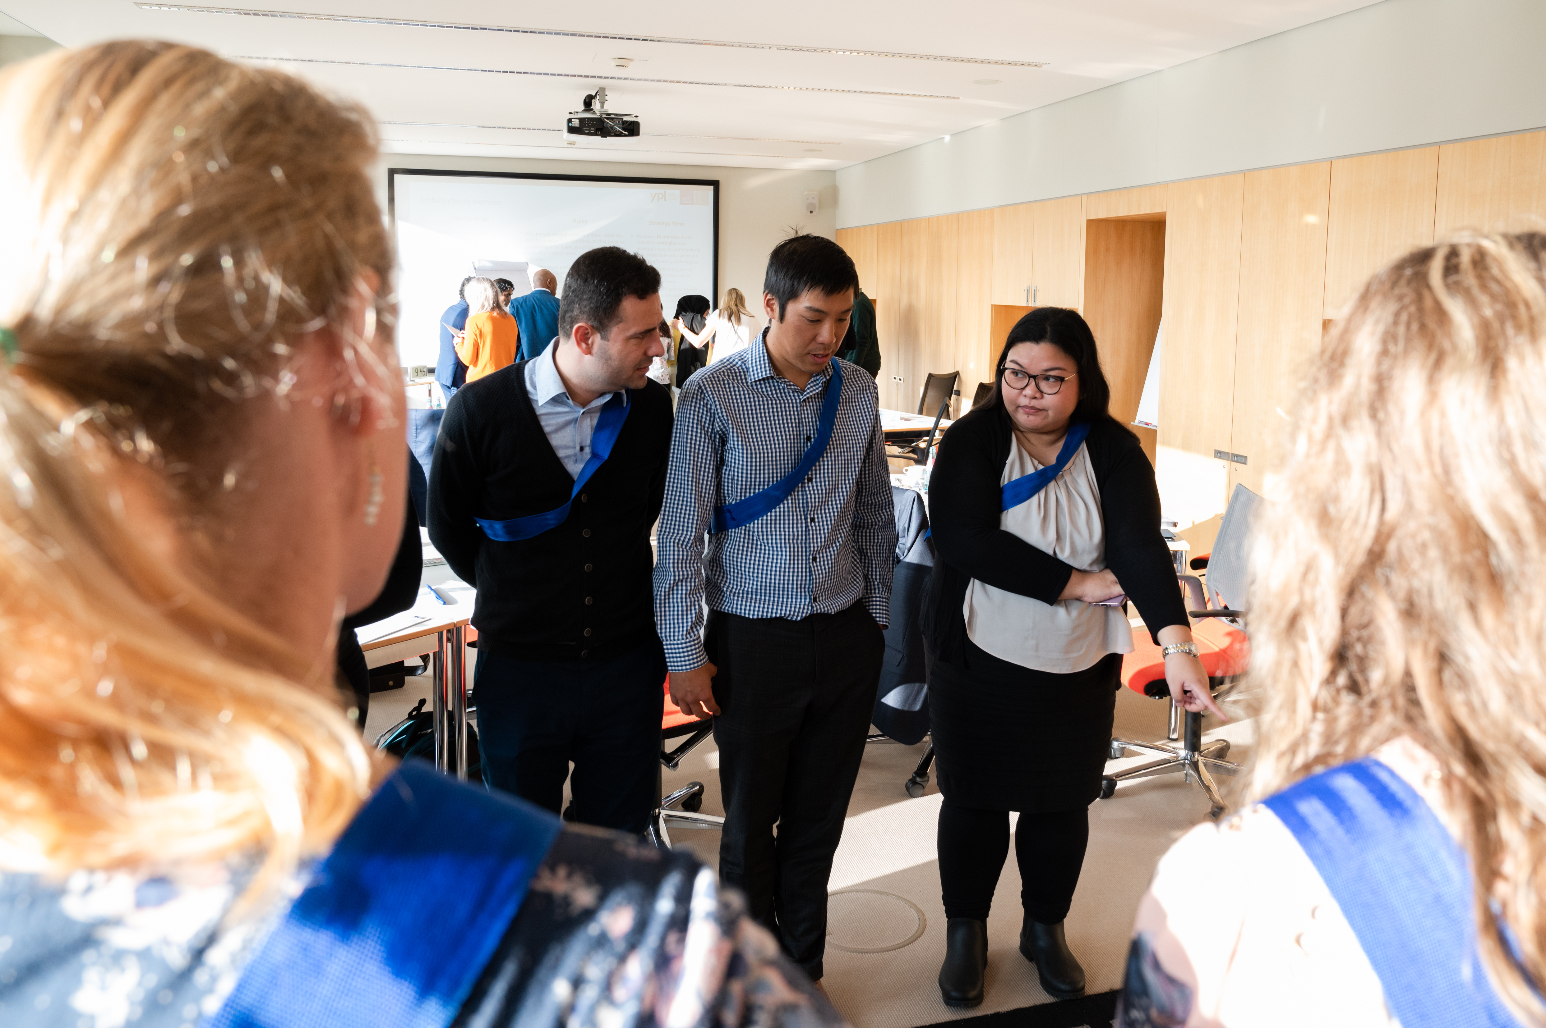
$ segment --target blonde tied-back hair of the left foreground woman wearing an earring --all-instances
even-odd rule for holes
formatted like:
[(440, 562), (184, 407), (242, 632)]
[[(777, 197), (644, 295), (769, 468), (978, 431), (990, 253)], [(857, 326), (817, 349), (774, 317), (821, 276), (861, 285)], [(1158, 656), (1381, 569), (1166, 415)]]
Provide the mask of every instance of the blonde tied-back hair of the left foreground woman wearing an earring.
[[(189, 46), (105, 43), (0, 73), (12, 856), (63, 872), (246, 850), (266, 860), (260, 892), (368, 795), (332, 669), (224, 604), (213, 566), (169, 566), (114, 482), (156, 482), (193, 552), (240, 547), (220, 512), (261, 445), (243, 436), (246, 402), (295, 399), (297, 340), (346, 334), (362, 272), (391, 278), (374, 153), (362, 110)], [(366, 306), (366, 339), (342, 343), (345, 413), (360, 363), (396, 374), (390, 332), (369, 339), (391, 309)]]

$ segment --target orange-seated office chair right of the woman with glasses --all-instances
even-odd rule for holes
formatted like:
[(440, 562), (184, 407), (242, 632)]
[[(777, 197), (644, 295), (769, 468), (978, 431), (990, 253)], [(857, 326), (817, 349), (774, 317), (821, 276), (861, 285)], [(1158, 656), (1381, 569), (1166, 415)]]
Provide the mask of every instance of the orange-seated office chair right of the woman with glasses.
[[(1197, 642), (1198, 657), (1207, 671), (1207, 683), (1214, 696), (1228, 693), (1245, 674), (1251, 659), (1251, 643), (1243, 631), (1246, 612), (1231, 608), (1228, 600), (1240, 603), (1245, 597), (1246, 550), (1251, 523), (1260, 502), (1262, 498), (1249, 488), (1235, 485), (1212, 553), (1192, 560), (1194, 570), (1200, 566), (1207, 567), (1207, 584), (1204, 586), (1195, 575), (1177, 577), (1190, 608), (1187, 615), (1197, 621), (1192, 628), (1192, 637)], [(1150, 638), (1135, 638), (1133, 652), (1122, 657), (1122, 685), (1141, 696), (1170, 697), (1161, 648)], [(1189, 782), (1197, 782), (1201, 787), (1209, 801), (1207, 813), (1211, 818), (1217, 818), (1224, 813), (1224, 801), (1214, 782), (1214, 774), (1237, 774), (1240, 765), (1224, 761), (1229, 754), (1228, 739), (1203, 742), (1201, 714), (1184, 711), (1173, 699), (1169, 702), (1170, 723), (1166, 742), (1112, 739), (1110, 757), (1113, 761), (1124, 757), (1127, 750), (1156, 753), (1160, 759), (1102, 778), (1101, 799), (1110, 799), (1118, 782), (1180, 771)], [(1183, 713), (1186, 714), (1184, 720)]]

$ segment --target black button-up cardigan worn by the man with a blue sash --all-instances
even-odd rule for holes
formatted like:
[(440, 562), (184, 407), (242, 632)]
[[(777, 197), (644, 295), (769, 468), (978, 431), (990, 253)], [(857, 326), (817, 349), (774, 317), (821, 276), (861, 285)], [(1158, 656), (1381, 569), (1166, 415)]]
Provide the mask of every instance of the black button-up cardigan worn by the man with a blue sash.
[(478, 646), (526, 660), (604, 660), (656, 632), (649, 527), (671, 451), (671, 396), (646, 382), (606, 459), (563, 524), (499, 543), (476, 518), (561, 507), (574, 478), (547, 442), (515, 363), (462, 386), (430, 468), (430, 541), (478, 589)]

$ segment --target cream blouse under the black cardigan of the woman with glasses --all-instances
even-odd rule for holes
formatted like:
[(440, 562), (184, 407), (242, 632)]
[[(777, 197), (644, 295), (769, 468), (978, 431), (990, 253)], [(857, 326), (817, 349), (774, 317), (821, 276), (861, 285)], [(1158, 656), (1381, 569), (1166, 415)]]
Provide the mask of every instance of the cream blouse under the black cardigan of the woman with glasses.
[[(1000, 485), (1040, 468), (1025, 447), (1011, 442)], [(1081, 445), (1047, 488), (1002, 512), (999, 527), (1079, 570), (1104, 570), (1105, 519), (1088, 447)], [(1107, 654), (1133, 651), (1133, 629), (1121, 608), (1082, 600), (1047, 604), (976, 578), (966, 584), (962, 617), (977, 646), (1036, 671), (1085, 671)]]

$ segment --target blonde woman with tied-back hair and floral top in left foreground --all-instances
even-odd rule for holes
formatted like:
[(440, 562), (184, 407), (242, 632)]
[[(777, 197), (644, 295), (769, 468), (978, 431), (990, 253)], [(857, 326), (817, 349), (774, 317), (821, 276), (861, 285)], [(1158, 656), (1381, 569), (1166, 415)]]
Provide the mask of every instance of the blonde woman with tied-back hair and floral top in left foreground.
[(0, 1025), (835, 1023), (691, 856), (345, 719), (405, 495), (374, 158), (187, 46), (0, 73)]

